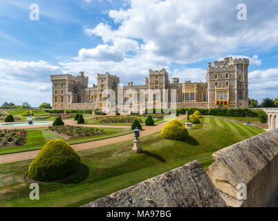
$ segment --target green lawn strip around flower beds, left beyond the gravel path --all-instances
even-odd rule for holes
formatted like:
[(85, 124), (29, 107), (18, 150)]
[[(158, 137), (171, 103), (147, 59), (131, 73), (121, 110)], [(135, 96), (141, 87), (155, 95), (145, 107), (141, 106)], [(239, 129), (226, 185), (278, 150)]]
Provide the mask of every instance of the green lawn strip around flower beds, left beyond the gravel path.
[[(118, 137), (121, 135), (125, 135), (128, 133), (133, 133), (130, 129), (122, 129), (122, 128), (103, 128), (104, 134), (94, 135), (90, 137), (80, 137), (68, 140), (68, 144), (81, 144), (85, 142), (91, 142), (94, 140), (102, 140), (110, 137)], [(38, 128), (27, 130), (28, 131), (28, 139), (27, 143), (24, 146), (10, 146), (0, 148), (0, 155), (8, 154), (8, 153), (18, 153), (25, 151), (34, 151), (39, 150), (46, 142), (52, 139), (61, 139), (64, 138), (59, 137), (53, 133), (50, 133), (47, 128)]]

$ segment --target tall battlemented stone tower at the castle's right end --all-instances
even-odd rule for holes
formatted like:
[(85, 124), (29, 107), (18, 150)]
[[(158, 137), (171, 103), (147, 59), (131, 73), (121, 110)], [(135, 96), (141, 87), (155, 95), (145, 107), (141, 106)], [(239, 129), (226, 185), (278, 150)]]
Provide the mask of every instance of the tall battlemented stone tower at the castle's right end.
[(210, 108), (248, 108), (248, 59), (225, 57), (208, 64), (207, 99)]

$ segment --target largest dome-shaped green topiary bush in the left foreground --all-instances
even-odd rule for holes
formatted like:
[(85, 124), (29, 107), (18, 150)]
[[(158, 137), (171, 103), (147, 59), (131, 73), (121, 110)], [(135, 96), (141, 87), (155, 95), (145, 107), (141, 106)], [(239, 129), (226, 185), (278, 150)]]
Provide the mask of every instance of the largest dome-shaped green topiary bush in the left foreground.
[(50, 140), (30, 164), (28, 176), (33, 180), (59, 180), (80, 169), (80, 156), (63, 140)]

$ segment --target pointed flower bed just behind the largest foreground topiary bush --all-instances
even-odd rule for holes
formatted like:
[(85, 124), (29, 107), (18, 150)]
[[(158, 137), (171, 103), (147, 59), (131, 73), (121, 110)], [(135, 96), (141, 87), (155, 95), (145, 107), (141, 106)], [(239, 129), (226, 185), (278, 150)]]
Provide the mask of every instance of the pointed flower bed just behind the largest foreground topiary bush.
[(103, 129), (83, 126), (49, 126), (48, 128), (50, 132), (55, 133), (66, 140), (104, 133)]

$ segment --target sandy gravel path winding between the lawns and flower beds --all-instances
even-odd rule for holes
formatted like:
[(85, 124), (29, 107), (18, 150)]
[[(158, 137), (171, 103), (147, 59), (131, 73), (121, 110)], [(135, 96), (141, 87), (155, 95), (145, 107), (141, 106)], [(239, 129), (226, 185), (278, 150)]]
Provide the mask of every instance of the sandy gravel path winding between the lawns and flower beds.
[[(183, 119), (185, 116), (179, 116), (177, 117), (178, 120)], [(71, 124), (71, 122), (67, 122), (67, 124)], [(167, 124), (167, 122), (163, 122), (161, 124), (158, 124), (156, 126), (143, 126), (142, 128), (144, 129), (144, 131), (140, 132), (140, 137), (144, 137), (147, 135), (151, 135), (152, 133), (156, 133), (158, 131), (161, 131), (163, 126), (165, 126), (165, 124)], [(82, 125), (83, 126), (83, 125)], [(104, 127), (103, 125), (89, 125), (89, 126), (99, 126), (99, 127)], [(116, 126), (109, 126), (109, 125), (105, 125), (106, 127), (109, 128), (116, 128)], [(125, 128), (125, 126), (120, 126), (117, 128)], [(127, 126), (127, 128), (130, 128), (130, 126)], [(128, 140), (133, 140), (133, 133), (131, 134), (127, 134), (127, 135), (122, 135), (119, 137), (111, 137), (111, 138), (107, 138), (104, 140), (96, 140), (93, 142), (86, 142), (86, 143), (82, 143), (82, 144), (73, 144), (71, 145), (75, 151), (84, 151), (84, 150), (88, 150), (91, 148), (98, 148), (101, 146), (106, 146), (106, 145), (110, 145), (110, 144), (118, 144), (119, 142), (124, 142), (124, 141), (128, 141)], [(22, 161), (22, 160), (30, 160), (30, 159), (34, 159), (37, 155), (37, 153), (39, 153), (39, 150), (37, 151), (27, 151), (27, 152), (21, 152), (21, 153), (10, 153), (10, 154), (6, 154), (6, 155), (0, 155), (0, 164), (6, 164), (9, 162), (17, 162), (17, 161)]]

